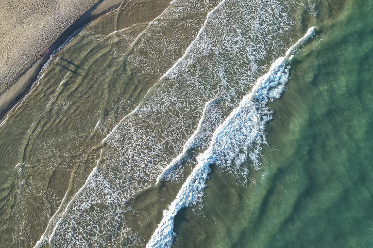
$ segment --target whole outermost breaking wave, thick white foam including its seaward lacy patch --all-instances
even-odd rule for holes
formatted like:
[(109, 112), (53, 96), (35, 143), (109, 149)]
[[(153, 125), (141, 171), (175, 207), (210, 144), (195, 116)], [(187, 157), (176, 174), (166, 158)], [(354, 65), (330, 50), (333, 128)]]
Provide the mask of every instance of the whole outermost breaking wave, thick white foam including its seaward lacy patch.
[[(239, 166), (248, 155), (247, 147), (254, 144), (260, 146), (265, 142), (264, 124), (271, 118), (266, 104), (279, 98), (283, 92), (288, 81), (289, 62), (292, 58), (290, 56), (314, 35), (314, 27), (312, 27), (302, 39), (288, 49), (285, 57), (277, 59), (271, 65), (269, 72), (256, 81), (251, 93), (243, 97), (239, 106), (215, 130), (209, 148), (198, 155), (197, 166), (186, 179), (169, 210), (164, 211), (162, 221), (153, 233), (147, 248), (171, 247), (174, 217), (181, 208), (195, 205), (200, 201), (211, 164), (226, 167), (230, 163), (226, 165), (224, 161), (231, 161)], [(259, 150), (255, 148), (255, 152), (249, 155), (255, 166), (259, 163), (257, 160)]]

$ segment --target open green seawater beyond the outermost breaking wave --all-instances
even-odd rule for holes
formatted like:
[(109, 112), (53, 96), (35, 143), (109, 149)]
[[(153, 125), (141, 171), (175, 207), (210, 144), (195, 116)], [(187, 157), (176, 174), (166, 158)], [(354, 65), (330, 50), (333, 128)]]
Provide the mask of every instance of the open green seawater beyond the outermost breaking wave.
[(373, 247), (372, 13), (354, 1), (319, 23), (270, 104), (254, 186), (213, 170), (203, 203), (177, 216), (175, 247)]

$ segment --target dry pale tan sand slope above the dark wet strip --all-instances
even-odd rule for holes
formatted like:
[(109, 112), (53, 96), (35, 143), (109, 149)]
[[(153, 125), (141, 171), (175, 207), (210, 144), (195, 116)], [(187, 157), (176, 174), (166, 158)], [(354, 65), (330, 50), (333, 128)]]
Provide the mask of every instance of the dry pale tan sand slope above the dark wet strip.
[(43, 62), (39, 54), (98, 1), (0, 0), (0, 109), (25, 87), (15, 87), (21, 76)]

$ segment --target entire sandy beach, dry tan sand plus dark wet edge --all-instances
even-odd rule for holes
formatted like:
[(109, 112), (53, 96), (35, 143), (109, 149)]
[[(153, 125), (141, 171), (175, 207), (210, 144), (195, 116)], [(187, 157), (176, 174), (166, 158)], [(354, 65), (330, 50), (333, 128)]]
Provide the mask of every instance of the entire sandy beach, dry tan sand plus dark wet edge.
[[(49, 54), (122, 0), (1, 0), (0, 118), (30, 89)], [(43, 53), (44, 57), (39, 54)]]

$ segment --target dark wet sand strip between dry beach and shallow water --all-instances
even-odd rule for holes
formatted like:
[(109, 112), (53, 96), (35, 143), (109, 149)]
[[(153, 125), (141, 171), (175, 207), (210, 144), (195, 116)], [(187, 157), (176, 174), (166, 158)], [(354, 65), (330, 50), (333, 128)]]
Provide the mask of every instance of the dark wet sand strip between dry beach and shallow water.
[[(83, 16), (70, 25), (66, 31), (58, 36), (44, 52), (44, 57), (36, 59), (26, 70), (20, 72), (16, 82), (3, 94), (0, 95), (0, 122), (4, 117), (28, 94), (43, 66), (50, 60), (51, 54), (62, 47), (74, 33), (76, 34), (90, 22), (98, 19), (116, 8), (119, 8), (126, 0), (99, 0)], [(75, 36), (75, 35), (74, 35)]]

